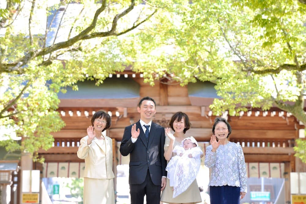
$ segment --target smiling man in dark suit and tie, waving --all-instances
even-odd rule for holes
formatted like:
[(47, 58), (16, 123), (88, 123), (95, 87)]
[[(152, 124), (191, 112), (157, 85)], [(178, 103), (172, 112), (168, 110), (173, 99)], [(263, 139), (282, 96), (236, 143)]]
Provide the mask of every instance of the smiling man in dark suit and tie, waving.
[(121, 140), (121, 155), (130, 155), (131, 204), (143, 204), (144, 195), (147, 204), (159, 204), (160, 191), (166, 187), (165, 129), (152, 122), (155, 106), (154, 99), (142, 98), (137, 107), (140, 120), (125, 127)]

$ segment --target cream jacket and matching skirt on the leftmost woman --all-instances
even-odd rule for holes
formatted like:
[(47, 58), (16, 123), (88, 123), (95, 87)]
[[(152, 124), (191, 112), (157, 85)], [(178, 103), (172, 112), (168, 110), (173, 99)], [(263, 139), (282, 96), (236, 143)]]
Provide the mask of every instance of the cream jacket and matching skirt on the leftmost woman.
[(85, 159), (84, 204), (115, 204), (114, 173), (112, 171), (112, 139), (92, 140), (87, 145), (88, 136), (80, 140), (77, 155)]

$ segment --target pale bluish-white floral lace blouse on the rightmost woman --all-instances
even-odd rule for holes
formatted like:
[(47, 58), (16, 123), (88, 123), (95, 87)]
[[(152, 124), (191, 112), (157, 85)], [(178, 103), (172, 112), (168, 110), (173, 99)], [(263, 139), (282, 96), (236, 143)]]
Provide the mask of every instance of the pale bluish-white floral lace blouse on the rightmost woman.
[(247, 192), (247, 176), (244, 154), (239, 144), (229, 142), (220, 145), (216, 152), (206, 148), (205, 165), (211, 169), (209, 186), (237, 186)]

